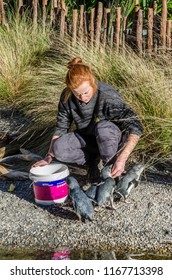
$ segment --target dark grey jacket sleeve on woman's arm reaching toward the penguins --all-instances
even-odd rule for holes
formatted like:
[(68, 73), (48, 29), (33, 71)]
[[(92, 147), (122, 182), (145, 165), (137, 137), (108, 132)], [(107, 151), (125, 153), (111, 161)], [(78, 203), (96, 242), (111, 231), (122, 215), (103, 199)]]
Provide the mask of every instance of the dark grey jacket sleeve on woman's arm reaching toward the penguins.
[(137, 114), (123, 101), (120, 95), (116, 95), (108, 104), (110, 119), (116, 123), (122, 132), (143, 134), (143, 126)]

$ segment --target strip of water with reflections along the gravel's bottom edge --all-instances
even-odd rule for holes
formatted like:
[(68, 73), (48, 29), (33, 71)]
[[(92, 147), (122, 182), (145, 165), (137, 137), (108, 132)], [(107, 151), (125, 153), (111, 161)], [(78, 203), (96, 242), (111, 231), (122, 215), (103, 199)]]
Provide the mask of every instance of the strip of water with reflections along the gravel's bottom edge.
[(75, 250), (59, 247), (54, 251), (38, 249), (0, 250), (0, 260), (172, 260), (171, 255), (156, 255), (153, 253), (125, 253), (111, 251)]

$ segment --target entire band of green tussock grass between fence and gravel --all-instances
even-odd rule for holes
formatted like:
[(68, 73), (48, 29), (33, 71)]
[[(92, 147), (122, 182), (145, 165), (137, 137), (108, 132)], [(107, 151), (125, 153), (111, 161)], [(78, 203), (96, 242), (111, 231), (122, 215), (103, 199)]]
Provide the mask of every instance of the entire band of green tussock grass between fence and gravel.
[[(29, 129), (53, 128), (67, 62), (78, 55), (99, 80), (112, 84), (141, 118), (145, 133), (136, 155), (146, 161), (171, 159), (170, 54), (141, 58), (129, 49), (117, 53), (108, 48), (98, 52), (79, 43), (72, 47), (68, 39), (61, 41), (50, 30), (43, 33), (27, 20), (16, 20), (9, 29), (0, 27), (0, 105), (14, 106), (32, 119)], [(44, 154), (48, 130), (41, 147), (40, 137), (37, 146)]]

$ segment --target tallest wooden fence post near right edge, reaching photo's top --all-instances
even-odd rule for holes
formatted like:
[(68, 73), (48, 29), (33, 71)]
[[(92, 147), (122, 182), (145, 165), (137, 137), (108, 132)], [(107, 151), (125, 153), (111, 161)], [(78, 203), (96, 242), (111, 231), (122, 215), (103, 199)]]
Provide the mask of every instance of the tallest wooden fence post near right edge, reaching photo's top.
[(167, 28), (167, 0), (162, 0), (161, 29), (160, 29), (162, 49), (165, 49), (166, 46), (166, 28)]

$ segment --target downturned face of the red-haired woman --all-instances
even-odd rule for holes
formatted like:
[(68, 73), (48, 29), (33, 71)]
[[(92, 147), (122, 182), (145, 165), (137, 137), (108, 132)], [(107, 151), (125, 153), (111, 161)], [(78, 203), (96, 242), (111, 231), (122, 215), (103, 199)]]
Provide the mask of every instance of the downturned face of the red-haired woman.
[(94, 95), (94, 89), (89, 82), (83, 82), (78, 88), (72, 90), (77, 99), (83, 103), (88, 103)]

